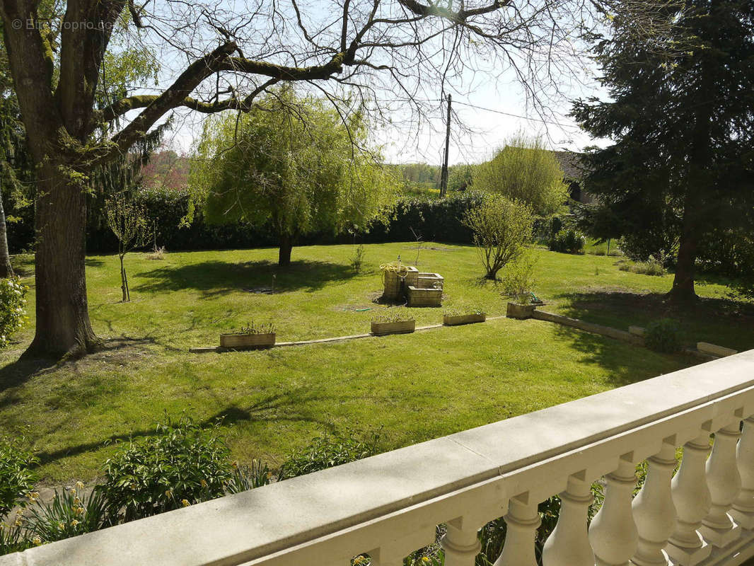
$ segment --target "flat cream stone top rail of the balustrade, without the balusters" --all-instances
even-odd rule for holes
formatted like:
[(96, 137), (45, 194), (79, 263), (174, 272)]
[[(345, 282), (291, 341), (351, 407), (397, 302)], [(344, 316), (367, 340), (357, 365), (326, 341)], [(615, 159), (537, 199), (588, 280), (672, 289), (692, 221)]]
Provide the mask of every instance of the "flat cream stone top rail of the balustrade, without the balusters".
[[(637, 351), (637, 355), (641, 352)], [(507, 481), (506, 497), (705, 422), (754, 414), (754, 350), (358, 462), (0, 557), (0, 566), (314, 564), (296, 548), (350, 537), (344, 559), (380, 546), (369, 526)], [(643, 443), (643, 444), (642, 444)], [(677, 445), (677, 444), (676, 444)], [(605, 450), (608, 446), (610, 449)], [(584, 454), (590, 454), (584, 460)], [(644, 457), (644, 456), (642, 456)], [(557, 466), (557, 467), (554, 467)], [(610, 468), (605, 468), (608, 471)], [(600, 472), (602, 473), (602, 472)], [(518, 491), (516, 491), (518, 490)], [(547, 497), (550, 493), (541, 494)], [(454, 497), (456, 498), (454, 500)], [(465, 497), (465, 499), (464, 499)], [(433, 503), (434, 502), (434, 503)], [(497, 503), (499, 514), (504, 515)], [(480, 506), (489, 505), (479, 501)], [(422, 507), (424, 506), (424, 507)], [(437, 509), (440, 509), (438, 506)], [(466, 507), (464, 507), (466, 509)], [(438, 511), (440, 512), (440, 511)], [(398, 521), (400, 523), (400, 521)], [(416, 516), (411, 524), (416, 524)], [(371, 535), (369, 534), (371, 533)], [(400, 533), (394, 536), (400, 538)], [(324, 545), (324, 546), (322, 546)], [(293, 550), (292, 550), (293, 549)], [(323, 552), (323, 551), (322, 551)], [(288, 556), (290, 554), (290, 556)], [(316, 555), (316, 554), (315, 554)], [(290, 561), (286, 559), (290, 558)], [(320, 554), (319, 564), (335, 564)]]

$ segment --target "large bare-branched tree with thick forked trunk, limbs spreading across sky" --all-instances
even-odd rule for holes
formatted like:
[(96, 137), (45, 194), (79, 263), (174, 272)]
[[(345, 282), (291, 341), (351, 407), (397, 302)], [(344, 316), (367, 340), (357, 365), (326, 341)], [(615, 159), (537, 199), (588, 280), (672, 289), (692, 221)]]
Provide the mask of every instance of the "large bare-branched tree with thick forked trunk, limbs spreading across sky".
[[(99, 341), (87, 312), (84, 186), (92, 168), (142, 139), (174, 109), (247, 111), (279, 82), (305, 82), (341, 112), (396, 110), (421, 122), (466, 72), (510, 69), (538, 104), (578, 69), (578, 35), (619, 0), (0, 0), (5, 45), (38, 171), (36, 334), (28, 352)], [(108, 90), (113, 38), (149, 45), (170, 84)], [(109, 51), (110, 50), (110, 51)], [(567, 78), (564, 78), (567, 77)], [(494, 78), (494, 75), (493, 77)], [(98, 97), (98, 94), (103, 96)], [(97, 100), (109, 100), (101, 105)]]

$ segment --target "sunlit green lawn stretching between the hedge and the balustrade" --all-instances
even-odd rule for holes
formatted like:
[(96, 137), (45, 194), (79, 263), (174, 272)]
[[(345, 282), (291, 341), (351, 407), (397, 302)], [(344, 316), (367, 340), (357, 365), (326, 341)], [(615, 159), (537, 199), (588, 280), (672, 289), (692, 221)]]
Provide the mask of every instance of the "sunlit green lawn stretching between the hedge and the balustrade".
[[(112, 441), (148, 435), (165, 411), (210, 423), (225, 417), (240, 461), (279, 464), (323, 430), (384, 427), (397, 448), (694, 363), (541, 321), (483, 325), (265, 352), (189, 354), (249, 321), (274, 321), (279, 341), (368, 331), (379, 296), (379, 263), (413, 263), (413, 244), (369, 245), (366, 272), (350, 269), (351, 246), (294, 249), (294, 263), (270, 287), (277, 250), (143, 254), (127, 258), (132, 303), (119, 303), (117, 258), (87, 260), (90, 314), (103, 352), (52, 367), (17, 361), (31, 340), (0, 353), (0, 430), (26, 436), (48, 482), (89, 480)], [(621, 272), (605, 256), (532, 250), (535, 291), (554, 312), (618, 328), (670, 313), (689, 342), (754, 347), (754, 309), (725, 299), (712, 283), (688, 312), (668, 311), (661, 293), (672, 276)], [(17, 258), (30, 270), (29, 258)], [(473, 248), (428, 244), (419, 269), (446, 278), (446, 306), (504, 314), (492, 282), (480, 282)], [(27, 279), (32, 285), (32, 278)], [(33, 290), (32, 290), (33, 291)], [(32, 298), (32, 297), (31, 297)], [(33, 303), (33, 301), (30, 301)], [(358, 309), (371, 310), (359, 311)], [(441, 309), (412, 309), (418, 325)], [(33, 315), (32, 315), (33, 319)]]

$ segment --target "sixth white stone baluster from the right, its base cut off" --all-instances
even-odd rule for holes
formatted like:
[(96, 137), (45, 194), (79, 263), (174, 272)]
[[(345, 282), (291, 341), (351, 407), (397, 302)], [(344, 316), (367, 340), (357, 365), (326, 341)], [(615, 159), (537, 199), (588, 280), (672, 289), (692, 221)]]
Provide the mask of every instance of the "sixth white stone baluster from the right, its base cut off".
[(592, 500), (590, 482), (577, 475), (569, 477), (566, 491), (560, 494), (558, 524), (542, 549), (544, 566), (594, 566), (587, 532)]

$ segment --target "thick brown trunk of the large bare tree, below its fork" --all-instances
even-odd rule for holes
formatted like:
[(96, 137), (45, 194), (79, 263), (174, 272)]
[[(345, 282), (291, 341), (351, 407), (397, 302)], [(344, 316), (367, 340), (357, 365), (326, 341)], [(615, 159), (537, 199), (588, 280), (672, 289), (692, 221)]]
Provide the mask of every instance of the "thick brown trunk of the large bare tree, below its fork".
[(50, 160), (38, 171), (36, 329), (26, 355), (79, 354), (100, 344), (87, 310), (86, 195), (81, 186), (66, 183), (59, 165)]

